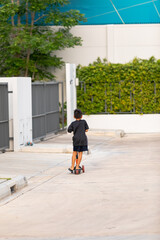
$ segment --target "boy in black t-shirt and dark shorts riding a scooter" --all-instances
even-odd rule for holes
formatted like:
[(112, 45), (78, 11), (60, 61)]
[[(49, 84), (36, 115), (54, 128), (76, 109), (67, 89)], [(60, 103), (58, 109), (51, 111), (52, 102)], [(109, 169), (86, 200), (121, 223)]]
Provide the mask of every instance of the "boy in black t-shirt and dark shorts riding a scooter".
[(82, 112), (80, 109), (74, 110), (74, 122), (68, 127), (68, 132), (73, 132), (73, 155), (72, 166), (68, 170), (73, 173), (74, 165), (76, 161), (76, 155), (78, 152), (78, 160), (76, 161), (76, 169), (79, 169), (79, 164), (82, 160), (83, 151), (88, 151), (88, 141), (85, 132), (88, 132), (88, 124), (85, 120), (82, 120)]

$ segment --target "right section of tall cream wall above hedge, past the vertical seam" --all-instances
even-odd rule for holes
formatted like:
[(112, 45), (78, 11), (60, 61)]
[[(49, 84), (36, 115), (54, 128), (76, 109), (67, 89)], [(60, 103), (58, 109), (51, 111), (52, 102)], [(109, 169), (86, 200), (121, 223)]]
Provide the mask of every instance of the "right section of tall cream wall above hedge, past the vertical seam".
[(107, 26), (107, 59), (126, 63), (135, 57), (160, 58), (160, 24)]

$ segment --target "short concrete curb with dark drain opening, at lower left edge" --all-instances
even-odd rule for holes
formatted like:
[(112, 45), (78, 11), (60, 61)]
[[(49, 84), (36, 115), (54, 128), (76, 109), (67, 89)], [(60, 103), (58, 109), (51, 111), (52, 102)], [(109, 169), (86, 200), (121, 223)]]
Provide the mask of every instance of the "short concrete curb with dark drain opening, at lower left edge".
[(8, 180), (2, 184), (0, 184), (0, 200), (5, 197), (11, 196), (14, 192), (22, 189), (27, 186), (28, 182), (26, 177), (17, 176), (12, 180)]

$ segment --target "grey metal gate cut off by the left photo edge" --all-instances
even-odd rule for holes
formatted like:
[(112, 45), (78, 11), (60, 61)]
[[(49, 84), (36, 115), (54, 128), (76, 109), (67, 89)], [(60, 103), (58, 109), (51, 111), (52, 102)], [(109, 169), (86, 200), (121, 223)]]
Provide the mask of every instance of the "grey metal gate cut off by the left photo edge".
[(0, 83), (0, 150), (9, 148), (8, 84)]

